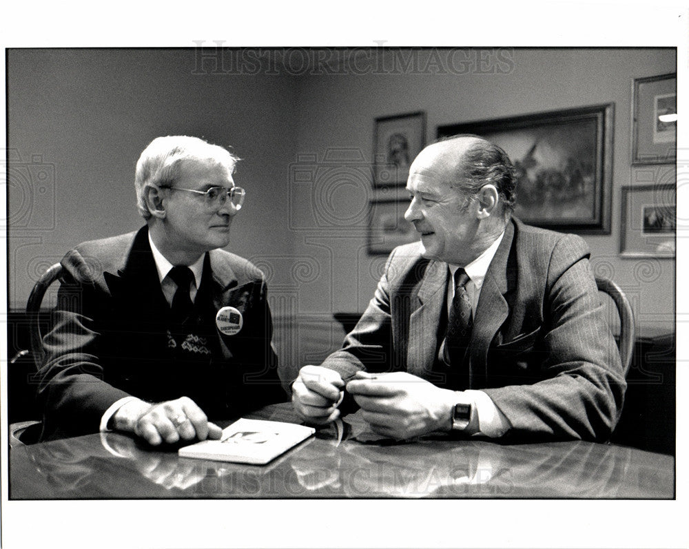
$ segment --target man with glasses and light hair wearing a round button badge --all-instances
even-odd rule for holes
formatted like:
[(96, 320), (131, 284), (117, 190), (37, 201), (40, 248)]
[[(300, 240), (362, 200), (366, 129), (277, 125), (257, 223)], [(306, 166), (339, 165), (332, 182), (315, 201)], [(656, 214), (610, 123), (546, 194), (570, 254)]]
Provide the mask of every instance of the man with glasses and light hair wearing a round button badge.
[(63, 258), (39, 372), (43, 439), (218, 438), (209, 418), (284, 397), (263, 274), (219, 249), (245, 198), (237, 160), (198, 138), (154, 139), (134, 181), (146, 226)]

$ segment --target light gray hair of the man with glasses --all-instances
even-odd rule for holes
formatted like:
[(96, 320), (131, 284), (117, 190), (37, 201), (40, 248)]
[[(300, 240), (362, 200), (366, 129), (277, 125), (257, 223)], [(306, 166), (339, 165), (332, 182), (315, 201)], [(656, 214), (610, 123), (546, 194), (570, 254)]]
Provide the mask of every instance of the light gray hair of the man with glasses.
[(156, 137), (139, 156), (134, 176), (136, 207), (145, 220), (151, 218), (144, 195), (146, 185), (164, 187), (174, 184), (181, 164), (189, 160), (211, 161), (224, 166), (227, 173), (232, 174), (240, 158), (224, 147), (212, 145), (198, 137)]

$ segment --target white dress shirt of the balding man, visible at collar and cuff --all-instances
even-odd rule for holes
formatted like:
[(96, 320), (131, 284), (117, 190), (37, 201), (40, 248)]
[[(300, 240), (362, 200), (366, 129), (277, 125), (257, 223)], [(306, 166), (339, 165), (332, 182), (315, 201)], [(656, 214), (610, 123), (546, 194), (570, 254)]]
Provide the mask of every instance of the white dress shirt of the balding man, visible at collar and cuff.
[[(502, 242), (503, 233), (497, 237), (495, 242), (491, 244), (486, 251), (484, 251), (480, 256), (473, 260), (469, 265), (464, 266), (464, 271), (466, 275), (469, 276), (469, 282), (466, 282), (464, 288), (466, 288), (466, 293), (471, 301), (471, 309), (475, 313), (476, 307), (478, 305), (478, 300), (481, 295), (481, 288), (483, 287), (483, 281), (486, 278), (486, 273), (491, 265), (493, 256), (497, 251), (497, 247), (500, 246)], [(450, 278), (449, 280), (454, 280), (455, 271), (460, 268), (459, 265), (449, 265)], [(452, 307), (452, 300), (455, 297), (455, 285), (447, 284), (447, 298), (446, 306), (448, 315), (450, 308)], [(491, 397), (486, 395), (483, 391), (477, 391), (474, 389), (467, 389), (466, 391), (460, 391), (463, 393), (464, 397), (469, 398), (473, 404), (473, 409), (478, 416), (478, 426), (479, 431), (473, 433), (474, 435), (485, 435), (486, 437), (500, 437), (509, 428), (509, 423), (506, 417), (502, 414), (500, 410), (497, 409)], [(464, 398), (462, 402), (464, 402)]]

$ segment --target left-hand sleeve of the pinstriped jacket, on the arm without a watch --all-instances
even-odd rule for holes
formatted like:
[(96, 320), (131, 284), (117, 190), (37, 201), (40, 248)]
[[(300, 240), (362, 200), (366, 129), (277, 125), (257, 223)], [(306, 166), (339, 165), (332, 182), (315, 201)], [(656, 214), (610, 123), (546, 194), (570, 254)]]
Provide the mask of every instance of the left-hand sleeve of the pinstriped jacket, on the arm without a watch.
[(347, 334), (340, 351), (329, 355), (321, 365), (335, 370), (347, 382), (357, 371), (380, 372), (392, 364), (393, 342), (389, 291), (390, 254), (373, 298), (356, 327)]

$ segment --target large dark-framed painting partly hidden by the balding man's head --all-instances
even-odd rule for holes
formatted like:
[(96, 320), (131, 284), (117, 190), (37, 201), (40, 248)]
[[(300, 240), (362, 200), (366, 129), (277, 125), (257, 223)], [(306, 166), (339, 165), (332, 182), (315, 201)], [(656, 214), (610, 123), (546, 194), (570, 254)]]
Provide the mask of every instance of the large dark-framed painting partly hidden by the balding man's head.
[(610, 234), (615, 106), (443, 125), (438, 137), (477, 134), (502, 147), (517, 172), (515, 215), (531, 225)]

